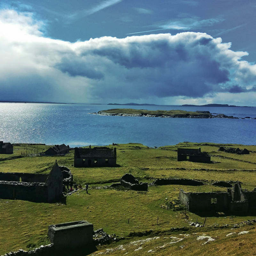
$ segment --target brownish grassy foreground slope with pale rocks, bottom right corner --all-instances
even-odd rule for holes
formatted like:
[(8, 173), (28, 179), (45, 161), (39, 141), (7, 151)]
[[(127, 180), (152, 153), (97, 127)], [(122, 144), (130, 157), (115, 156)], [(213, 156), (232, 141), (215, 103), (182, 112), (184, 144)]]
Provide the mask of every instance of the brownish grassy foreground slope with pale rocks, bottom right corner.
[[(246, 234), (238, 235), (241, 231), (248, 231)], [(196, 233), (194, 233), (196, 232)], [(108, 249), (99, 248), (100, 250), (92, 253), (93, 256), (108, 255), (177, 255), (177, 256), (208, 256), (208, 255), (228, 255), (228, 256), (248, 256), (256, 255), (255, 241), (256, 230), (253, 226), (233, 229), (218, 229), (215, 231), (201, 231), (194, 228), (194, 232), (187, 234), (172, 233), (164, 236), (154, 236), (152, 240), (146, 240), (146, 237), (132, 239), (129, 243), (124, 241), (112, 245)], [(227, 236), (230, 233), (235, 233)], [(204, 244), (207, 239), (197, 240), (199, 236), (210, 236), (214, 241)], [(149, 238), (150, 239), (150, 238)], [(109, 246), (108, 246), (109, 247)]]

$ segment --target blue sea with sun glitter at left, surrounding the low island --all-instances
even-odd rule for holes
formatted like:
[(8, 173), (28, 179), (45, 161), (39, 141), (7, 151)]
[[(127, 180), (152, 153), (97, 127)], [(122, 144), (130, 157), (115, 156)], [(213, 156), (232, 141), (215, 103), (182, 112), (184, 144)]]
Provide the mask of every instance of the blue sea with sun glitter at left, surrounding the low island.
[(183, 141), (256, 144), (256, 119), (160, 118), (88, 114), (110, 108), (208, 110), (239, 118), (256, 117), (256, 107), (113, 106), (0, 103), (0, 140), (65, 143), (70, 147), (136, 142), (148, 147)]

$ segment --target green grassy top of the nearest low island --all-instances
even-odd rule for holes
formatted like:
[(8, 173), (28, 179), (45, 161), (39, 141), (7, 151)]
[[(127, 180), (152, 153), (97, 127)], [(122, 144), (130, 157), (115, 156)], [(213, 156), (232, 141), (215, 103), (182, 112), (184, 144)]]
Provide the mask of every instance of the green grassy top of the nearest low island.
[(186, 114), (197, 115), (197, 116), (205, 115), (203, 113), (197, 113), (197, 112), (185, 111), (185, 110), (147, 110), (147, 109), (133, 109), (133, 108), (113, 108), (113, 109), (102, 110), (100, 112), (106, 112), (111, 114), (125, 113), (125, 114), (148, 114), (148, 115), (186, 115)]

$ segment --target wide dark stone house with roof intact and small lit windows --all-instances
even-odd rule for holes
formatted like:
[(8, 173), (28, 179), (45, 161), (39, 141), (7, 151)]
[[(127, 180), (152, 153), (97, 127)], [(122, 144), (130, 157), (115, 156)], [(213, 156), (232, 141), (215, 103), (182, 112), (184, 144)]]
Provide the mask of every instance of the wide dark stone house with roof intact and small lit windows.
[(75, 148), (75, 167), (116, 166), (116, 148)]

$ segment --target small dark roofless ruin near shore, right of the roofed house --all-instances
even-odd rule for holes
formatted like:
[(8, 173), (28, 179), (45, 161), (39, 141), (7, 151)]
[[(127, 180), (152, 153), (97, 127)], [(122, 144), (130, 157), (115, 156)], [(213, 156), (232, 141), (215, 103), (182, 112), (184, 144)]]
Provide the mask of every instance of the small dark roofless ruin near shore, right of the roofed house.
[(190, 161), (199, 163), (210, 163), (211, 156), (206, 152), (201, 152), (201, 148), (178, 148), (177, 161)]

